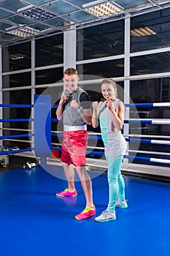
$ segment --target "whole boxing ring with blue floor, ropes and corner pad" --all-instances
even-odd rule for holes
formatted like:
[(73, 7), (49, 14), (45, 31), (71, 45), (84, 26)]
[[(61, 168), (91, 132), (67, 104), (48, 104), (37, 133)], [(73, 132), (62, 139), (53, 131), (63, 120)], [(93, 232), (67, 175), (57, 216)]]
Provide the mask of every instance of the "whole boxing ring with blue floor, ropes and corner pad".
[[(26, 105), (22, 106), (25, 108)], [(21, 105), (15, 107), (1, 105), (1, 107), (21, 108)], [(41, 102), (36, 99), (34, 105), (27, 105), (27, 108), (34, 110), (34, 118), (22, 120), (8, 118), (1, 119), (1, 122), (7, 121), (10, 124), (10, 121), (24, 120), (30, 123), (30, 129), (24, 135), (1, 135), (1, 140), (16, 141), (28, 137), (31, 140), (31, 147), (3, 151), (0, 152), (0, 157), (9, 155), (30, 157), (34, 154), (40, 164), (46, 165), (47, 162), (51, 169), (63, 173), (61, 160), (51, 158), (52, 150), (61, 151), (61, 147), (58, 148), (61, 146), (60, 143), (51, 142), (53, 136), (62, 139), (62, 130), (53, 132), (50, 129), (51, 122), (62, 124), (50, 116), (51, 109), (57, 106), (51, 105), (42, 97)], [(39, 112), (39, 109), (43, 111)], [(128, 119), (125, 125), (131, 121)], [(139, 120), (135, 121), (139, 122)], [(169, 122), (166, 122), (166, 125), (169, 125)], [(142, 140), (140, 143), (157, 143), (157, 140), (142, 139), (144, 135), (136, 135), (136, 138), (134, 135), (124, 136), (127, 143), (131, 143), (131, 140), (133, 143), (139, 143), (140, 140)], [(166, 146), (169, 146), (169, 136), (160, 138), (163, 139), (166, 139)], [(89, 132), (90, 140), (101, 140), (100, 133)], [(22, 141), (28, 142), (28, 140)], [(96, 151), (98, 148), (101, 147), (96, 146), (94, 149), (88, 146), (87, 154), (94, 149), (94, 156), (103, 157), (103, 152)], [(128, 149), (128, 153), (133, 153), (134, 157), (134, 151)], [(159, 172), (161, 173), (165, 168), (166, 175), (169, 176), (169, 152), (163, 156), (166, 157), (163, 159), (163, 164), (167, 167), (160, 167)], [(130, 161), (130, 157), (131, 155), (126, 154), (125, 161)], [(142, 160), (143, 158), (139, 159)], [(150, 161), (151, 158), (147, 157), (147, 160)], [(154, 159), (154, 161), (159, 160)], [(102, 173), (96, 168), (98, 166), (106, 168), (106, 161), (87, 158), (87, 162), (90, 176), (93, 177), (93, 173), (98, 174), (93, 178), (93, 201), (98, 215), (107, 205), (108, 184), (107, 173)], [(125, 170), (127, 165), (126, 162), (123, 163)], [(139, 164), (132, 165), (139, 171)], [(155, 166), (153, 168), (155, 169)], [(152, 169), (152, 166), (149, 169)], [(116, 222), (98, 223), (95, 222), (94, 217), (82, 222), (74, 218), (75, 214), (82, 211), (82, 206), (85, 204), (80, 182), (76, 183), (77, 197), (55, 197), (55, 193), (64, 188), (66, 181), (49, 175), (41, 165), (32, 168), (31, 173), (27, 173), (23, 168), (0, 172), (1, 254), (55, 256), (68, 255), (69, 252), (69, 255), (75, 256), (87, 256), (92, 253), (97, 256), (106, 254), (168, 256), (170, 205), (167, 202), (169, 202), (170, 184), (131, 176), (123, 177), (129, 207), (117, 208)], [(71, 230), (69, 236), (68, 227)]]

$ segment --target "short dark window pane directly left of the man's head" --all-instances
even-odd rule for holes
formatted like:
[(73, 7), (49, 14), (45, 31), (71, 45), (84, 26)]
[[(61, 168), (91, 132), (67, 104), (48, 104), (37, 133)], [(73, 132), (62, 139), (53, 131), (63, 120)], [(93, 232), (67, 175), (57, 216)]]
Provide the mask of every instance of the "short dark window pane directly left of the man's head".
[(36, 71), (36, 85), (57, 83), (63, 79), (63, 67)]

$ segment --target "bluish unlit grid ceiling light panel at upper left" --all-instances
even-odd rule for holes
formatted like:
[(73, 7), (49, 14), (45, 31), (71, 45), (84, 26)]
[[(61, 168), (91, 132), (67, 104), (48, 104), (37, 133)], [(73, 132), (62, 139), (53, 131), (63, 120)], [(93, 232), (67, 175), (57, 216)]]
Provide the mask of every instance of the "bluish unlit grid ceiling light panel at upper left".
[(30, 18), (31, 20), (36, 20), (38, 22), (50, 20), (51, 18), (57, 17), (57, 15), (55, 15), (54, 13), (48, 12), (47, 10), (44, 10), (40, 7), (34, 7), (29, 10), (19, 12), (18, 14), (22, 15), (25, 18)]

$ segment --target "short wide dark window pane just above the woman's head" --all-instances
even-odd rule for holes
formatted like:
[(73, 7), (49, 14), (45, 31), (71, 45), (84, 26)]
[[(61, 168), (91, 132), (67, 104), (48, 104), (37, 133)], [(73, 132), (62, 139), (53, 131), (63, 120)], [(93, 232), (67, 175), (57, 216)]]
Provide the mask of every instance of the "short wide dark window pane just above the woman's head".
[[(101, 61), (77, 66), (80, 75), (97, 75), (103, 78), (117, 78), (124, 75), (124, 60)], [(88, 77), (85, 78), (89, 79)], [(96, 79), (96, 78), (92, 78)]]

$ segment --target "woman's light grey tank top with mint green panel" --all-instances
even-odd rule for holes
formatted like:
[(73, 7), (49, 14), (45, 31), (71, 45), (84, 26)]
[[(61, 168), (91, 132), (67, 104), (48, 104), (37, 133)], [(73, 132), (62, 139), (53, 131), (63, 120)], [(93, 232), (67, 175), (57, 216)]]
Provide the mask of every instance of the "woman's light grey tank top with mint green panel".
[[(120, 99), (114, 100), (114, 109), (116, 109), (119, 101)], [(102, 102), (99, 109), (101, 138), (104, 142), (105, 156), (120, 157), (125, 154), (127, 144), (120, 130), (116, 133), (112, 131), (112, 114), (110, 110), (106, 108), (106, 103), (107, 101)]]

